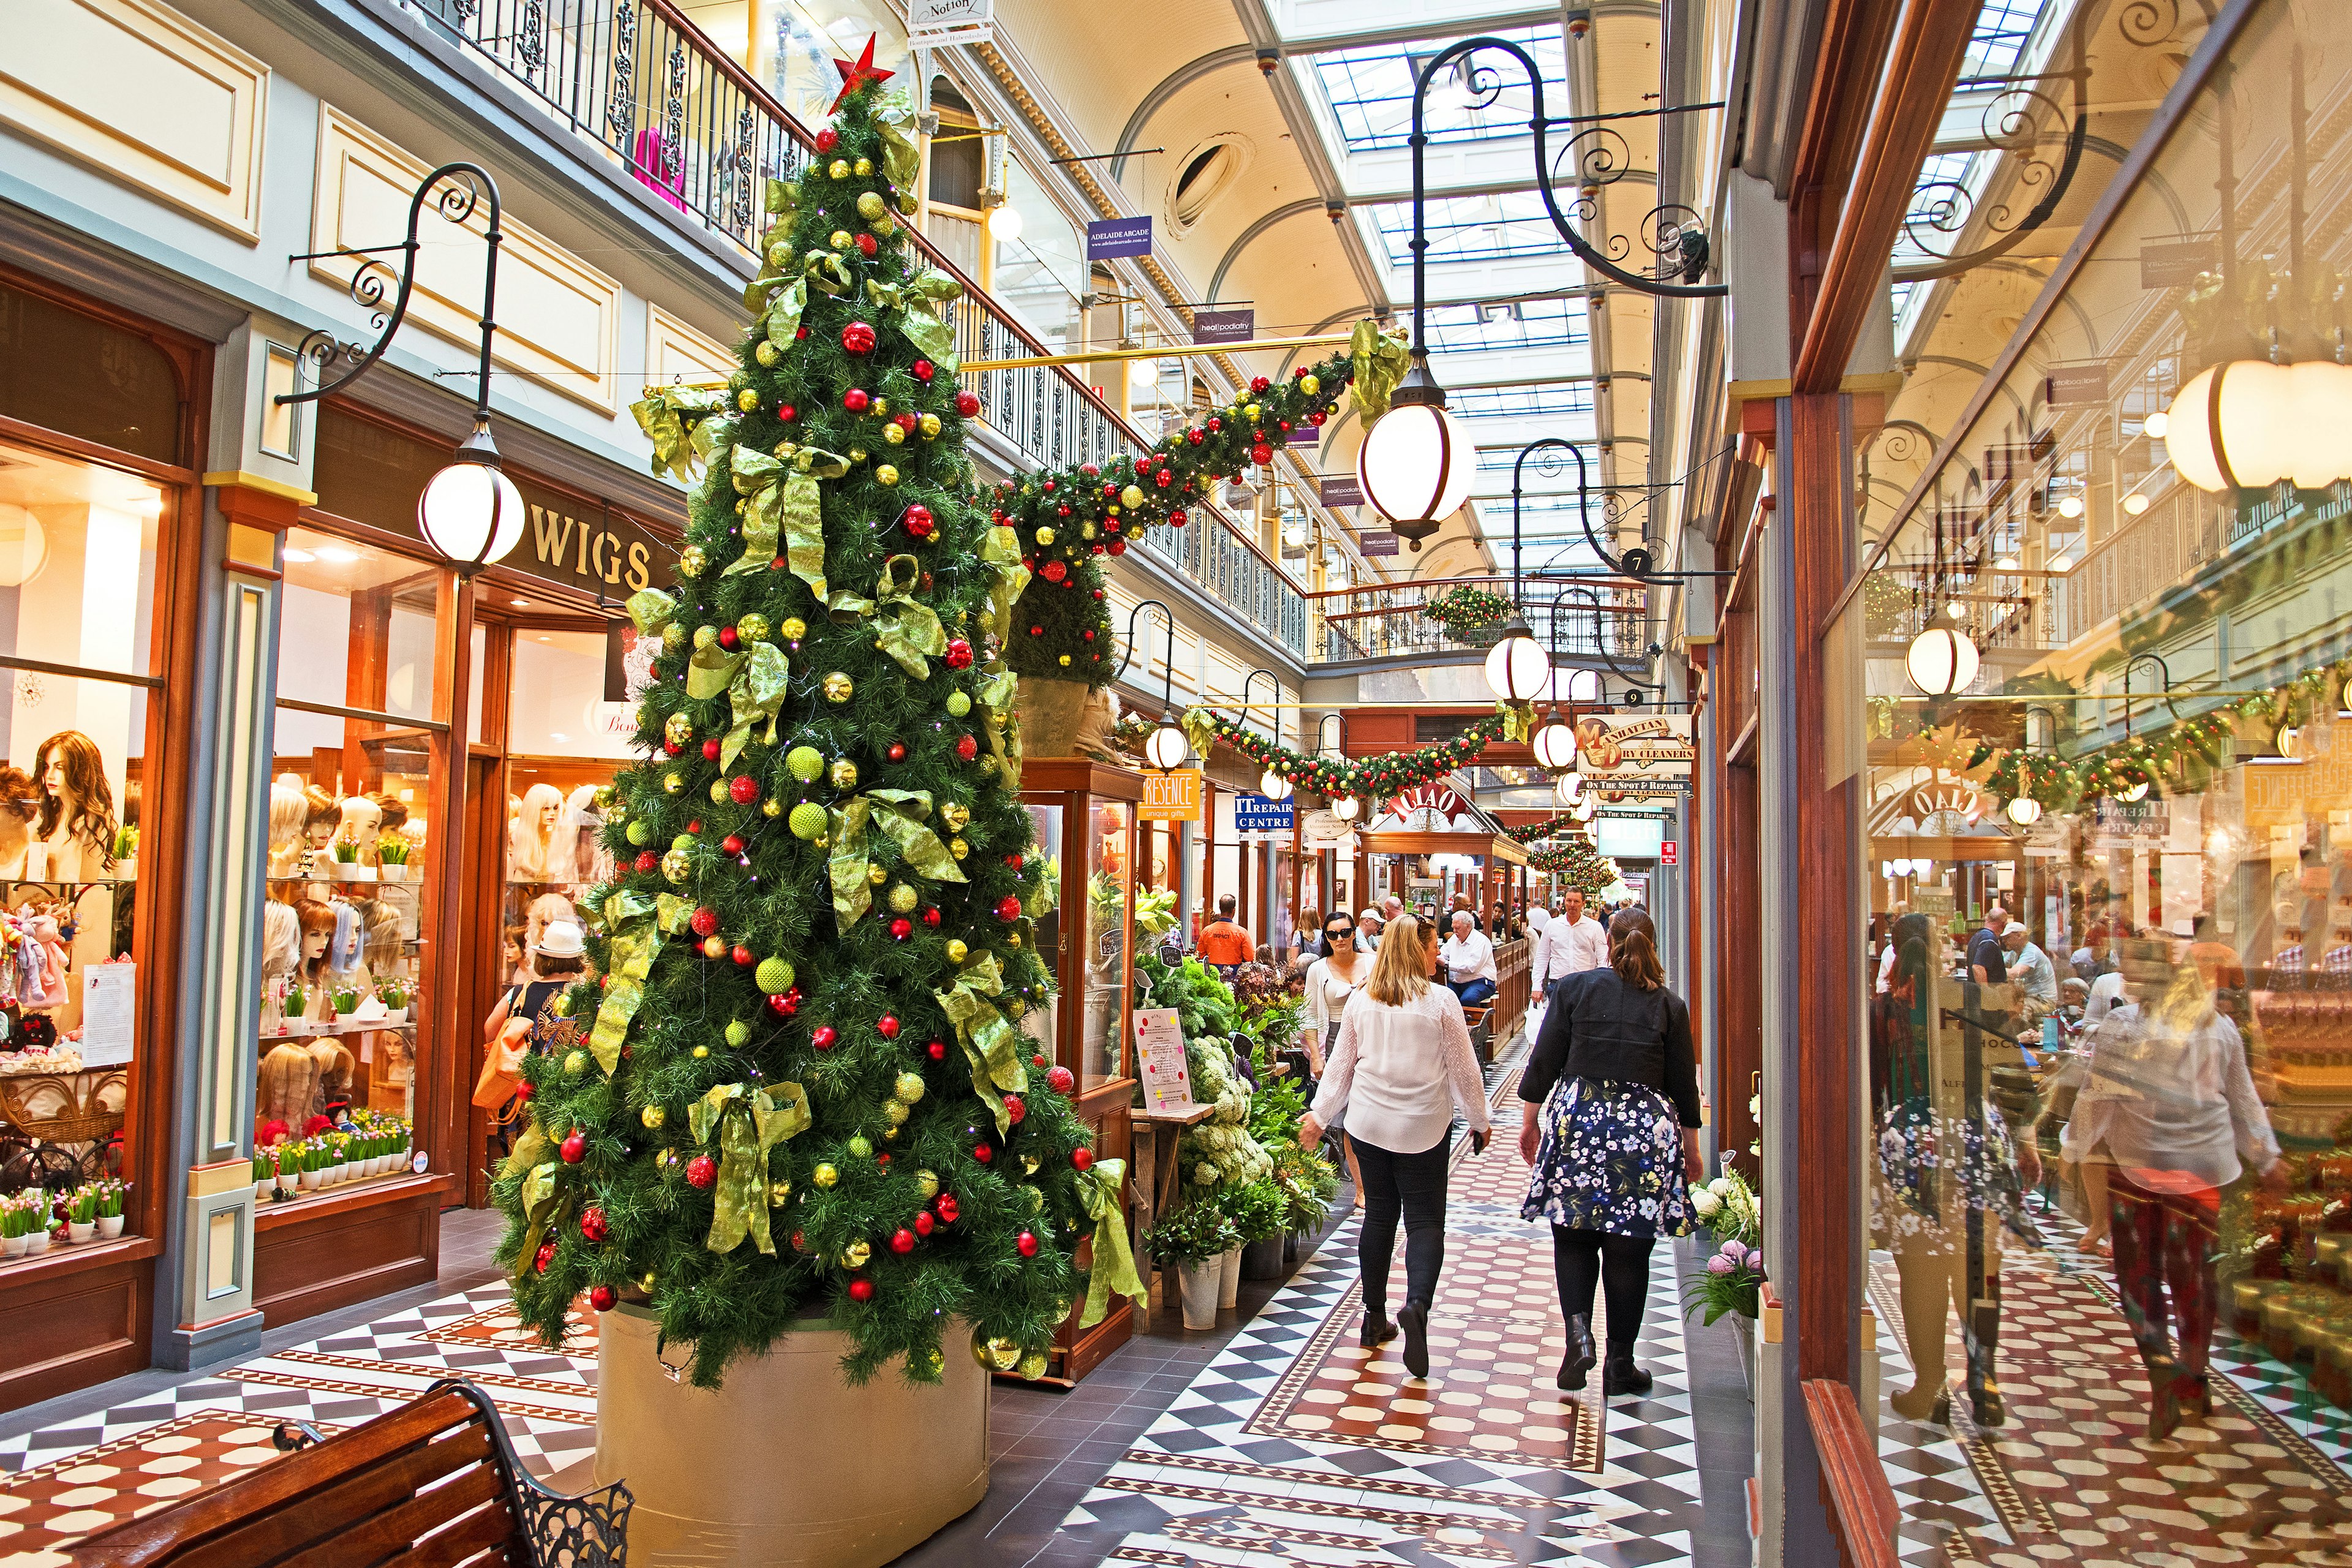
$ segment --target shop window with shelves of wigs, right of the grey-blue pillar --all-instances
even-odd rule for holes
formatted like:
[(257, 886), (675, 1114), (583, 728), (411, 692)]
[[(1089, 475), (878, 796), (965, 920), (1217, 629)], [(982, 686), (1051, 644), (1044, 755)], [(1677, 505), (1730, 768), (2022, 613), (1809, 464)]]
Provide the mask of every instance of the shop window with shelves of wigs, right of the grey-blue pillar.
[(318, 529), (285, 543), (256, 1185), (280, 1201), (407, 1166), (442, 827), (442, 571)]

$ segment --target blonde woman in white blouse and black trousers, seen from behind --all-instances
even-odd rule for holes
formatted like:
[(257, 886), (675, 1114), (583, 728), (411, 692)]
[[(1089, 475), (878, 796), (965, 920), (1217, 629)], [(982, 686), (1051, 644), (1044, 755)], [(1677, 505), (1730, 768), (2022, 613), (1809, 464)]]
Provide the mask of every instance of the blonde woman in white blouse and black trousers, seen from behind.
[[(1348, 1119), (1348, 1145), (1362, 1171), (1364, 1225), (1357, 1267), (1364, 1276), (1364, 1349), (1404, 1333), (1404, 1371), (1430, 1375), (1430, 1302), (1446, 1260), (1446, 1157), (1454, 1107), (1470, 1121), (1470, 1152), (1486, 1150), (1486, 1091), (1470, 1053), (1461, 999), (1430, 983), (1430, 945), (1421, 922), (1388, 926), (1381, 954), (1341, 1013), (1315, 1110), (1298, 1143), (1315, 1147), (1324, 1128)], [(1388, 1321), (1388, 1262), (1404, 1220), (1404, 1307)]]

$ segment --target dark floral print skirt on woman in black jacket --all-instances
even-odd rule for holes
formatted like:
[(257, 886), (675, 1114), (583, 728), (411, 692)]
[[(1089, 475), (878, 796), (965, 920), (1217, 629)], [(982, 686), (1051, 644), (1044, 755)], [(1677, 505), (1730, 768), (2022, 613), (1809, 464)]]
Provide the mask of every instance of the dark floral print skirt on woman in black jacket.
[(1559, 1079), (1543, 1107), (1543, 1138), (1522, 1220), (1611, 1237), (1691, 1234), (1675, 1105), (1646, 1084)]

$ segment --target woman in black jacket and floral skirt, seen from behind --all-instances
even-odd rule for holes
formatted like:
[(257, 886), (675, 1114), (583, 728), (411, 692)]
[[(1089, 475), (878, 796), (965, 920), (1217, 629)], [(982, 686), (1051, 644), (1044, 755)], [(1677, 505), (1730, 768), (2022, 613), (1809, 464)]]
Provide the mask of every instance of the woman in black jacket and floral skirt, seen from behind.
[(1691, 1009), (1665, 990), (1649, 914), (1618, 910), (1609, 966), (1552, 987), (1519, 1098), (1519, 1157), (1534, 1166), (1519, 1213), (1552, 1225), (1569, 1326), (1559, 1387), (1581, 1389), (1592, 1371), (1597, 1281), (1609, 1300), (1602, 1396), (1646, 1394), (1651, 1380), (1632, 1347), (1649, 1300), (1649, 1248), (1691, 1232), (1689, 1182), (1700, 1175)]

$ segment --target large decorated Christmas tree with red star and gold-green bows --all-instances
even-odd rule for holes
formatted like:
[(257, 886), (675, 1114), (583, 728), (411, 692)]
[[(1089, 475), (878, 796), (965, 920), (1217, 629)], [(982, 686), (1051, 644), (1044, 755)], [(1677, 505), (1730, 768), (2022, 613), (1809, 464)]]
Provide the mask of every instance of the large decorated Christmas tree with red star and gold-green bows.
[(689, 409), (715, 416), (644, 414), (708, 473), (675, 595), (630, 599), (663, 651), (562, 999), (581, 1039), (529, 1063), (496, 1182), (546, 1342), (581, 1295), (644, 1302), (701, 1385), (802, 1319), (849, 1331), (854, 1380), (938, 1378), (950, 1324), (1037, 1375), (1089, 1229), (1089, 1321), (1138, 1291), (1122, 1173), (1021, 1032), (1054, 898), (1002, 665), (1028, 567), (971, 487), (957, 284), (901, 233), (913, 115), (844, 78), (769, 188), (741, 369)]

